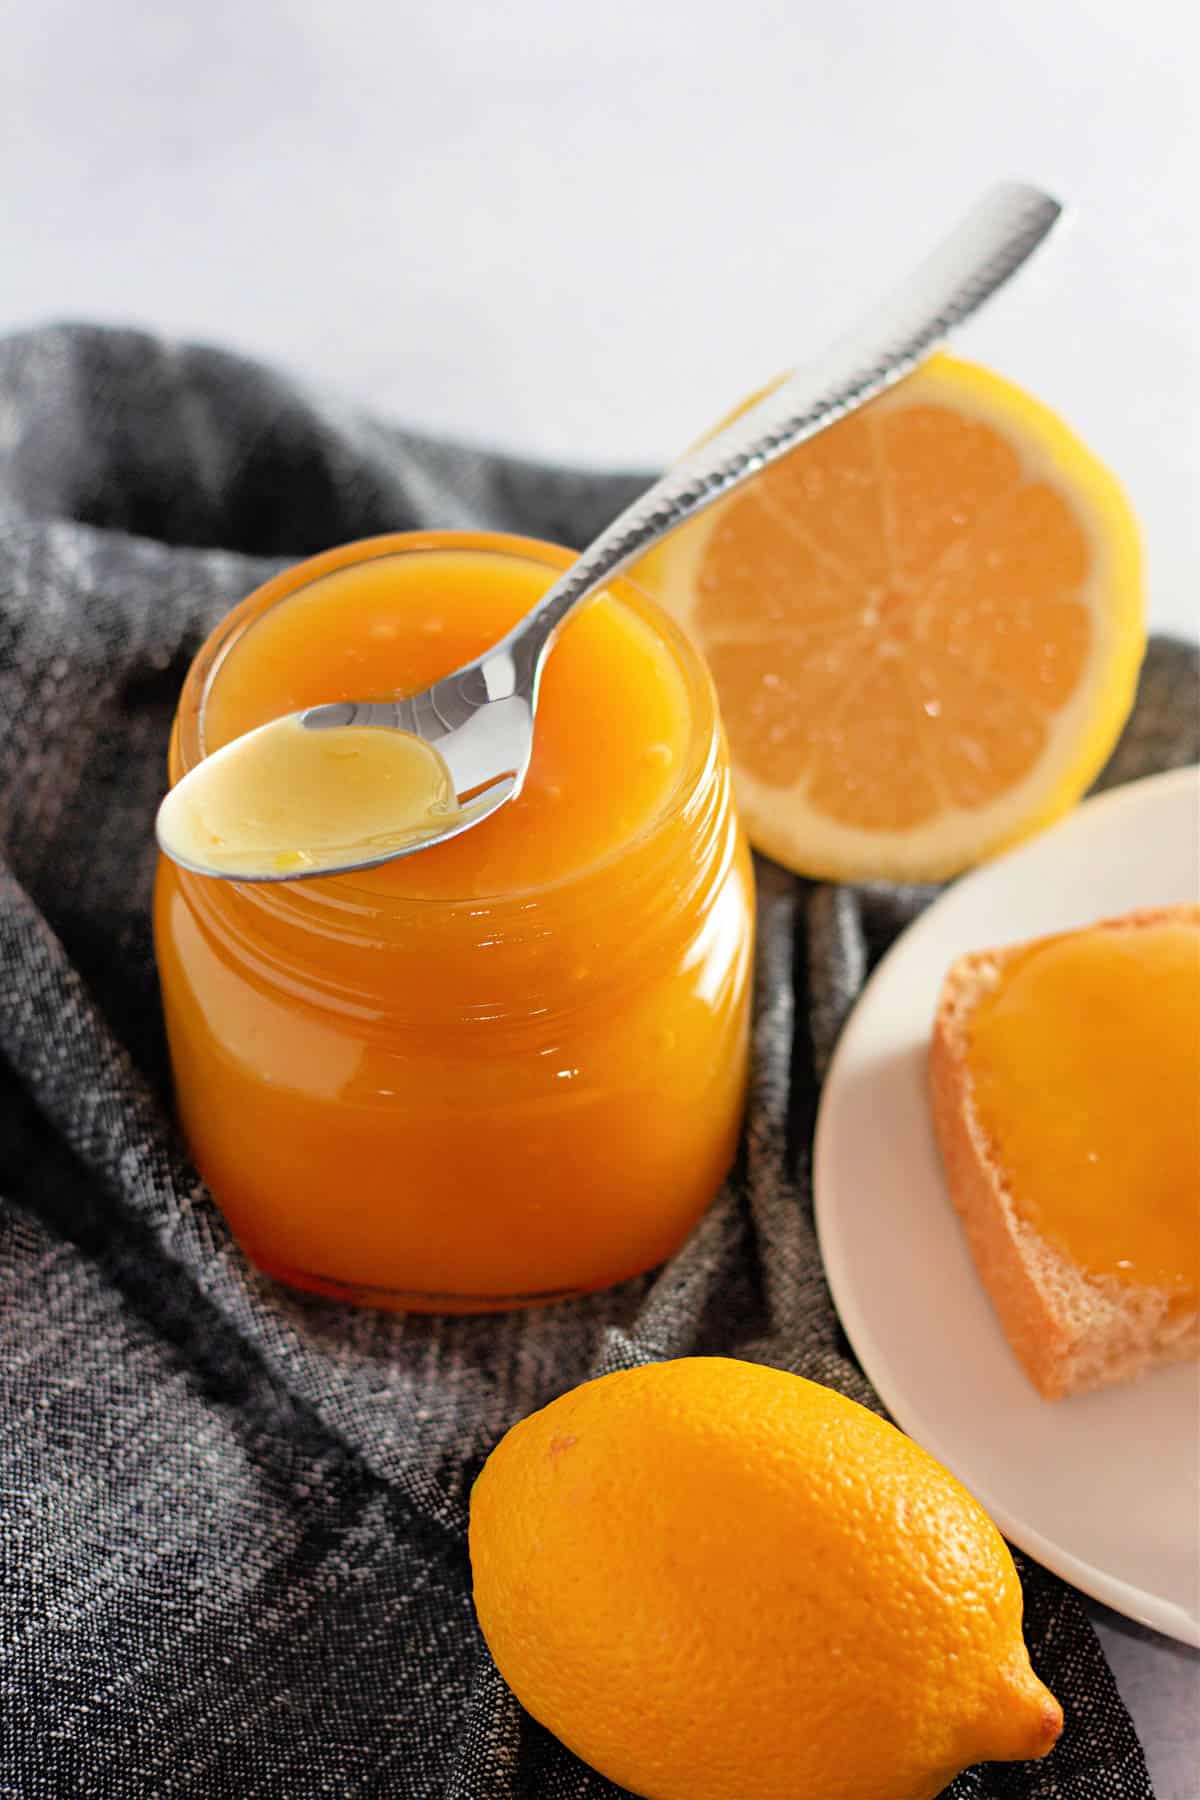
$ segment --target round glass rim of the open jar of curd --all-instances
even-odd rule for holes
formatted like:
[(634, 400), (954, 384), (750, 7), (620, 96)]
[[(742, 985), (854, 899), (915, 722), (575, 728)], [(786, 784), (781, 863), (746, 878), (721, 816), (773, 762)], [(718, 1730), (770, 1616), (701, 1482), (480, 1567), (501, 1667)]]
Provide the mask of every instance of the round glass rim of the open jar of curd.
[[(574, 562), (574, 551), (540, 538), (529, 538), (502, 531), (401, 531), (371, 538), (356, 538), (340, 544), (317, 556), (308, 556), (288, 565), (268, 581), (255, 587), (239, 601), (209, 634), (194, 657), (184, 689), (180, 693), (175, 731), (171, 733), (169, 779), (178, 781), (205, 756), (203, 718), (205, 706), (219, 680), (221, 668), (243, 635), (268, 610), (286, 603), (304, 592), (313, 583), (338, 572), (340, 569), (376, 562), (390, 556), (443, 554), (443, 553), (480, 553), (486, 556), (511, 556), (522, 562), (536, 562), (560, 572)], [(700, 657), (685, 632), (671, 619), (637, 583), (619, 576), (604, 585), (604, 592), (628, 605), (664, 644), (684, 680), (687, 691), (687, 749), (680, 776), (658, 808), (644, 821), (637, 832), (606, 850), (585, 868), (572, 869), (554, 880), (533, 887), (509, 889), (484, 895), (403, 895), (387, 889), (367, 887), (351, 875), (317, 877), (304, 882), (281, 882), (263, 887), (261, 884), (228, 884), (239, 895), (254, 898), (268, 911), (295, 914), (297, 922), (306, 913), (317, 920), (324, 914), (333, 923), (331, 914), (342, 914), (344, 923), (353, 929), (353, 920), (371, 922), (378, 929), (387, 916), (414, 916), (439, 913), (470, 913), (473, 916), (493, 918), (497, 914), (520, 914), (529, 918), (543, 904), (560, 905), (572, 902), (596, 887), (603, 887), (613, 869), (630, 859), (640, 860), (653, 855), (653, 844), (664, 835), (673, 821), (685, 815), (698, 797), (707, 790), (716, 767), (716, 749), (720, 742), (720, 716), (716, 693), (707, 664)], [(196, 880), (203, 880), (196, 877)]]

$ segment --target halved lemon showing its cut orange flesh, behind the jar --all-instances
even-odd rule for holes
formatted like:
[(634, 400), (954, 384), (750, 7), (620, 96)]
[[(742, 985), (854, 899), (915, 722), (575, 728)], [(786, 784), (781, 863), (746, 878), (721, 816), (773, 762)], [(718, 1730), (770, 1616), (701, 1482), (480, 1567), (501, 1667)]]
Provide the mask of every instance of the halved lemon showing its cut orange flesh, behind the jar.
[(709, 659), (752, 842), (833, 880), (939, 880), (1067, 812), (1146, 643), (1117, 481), (952, 356), (631, 574)]

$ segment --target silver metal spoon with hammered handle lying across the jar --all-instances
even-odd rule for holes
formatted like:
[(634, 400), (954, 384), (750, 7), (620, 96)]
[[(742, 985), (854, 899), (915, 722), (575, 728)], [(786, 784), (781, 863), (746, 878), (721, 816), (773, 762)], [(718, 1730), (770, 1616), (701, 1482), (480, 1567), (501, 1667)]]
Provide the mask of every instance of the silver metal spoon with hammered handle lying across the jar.
[[(261, 871), (241, 866), (234, 878), (300, 880), (374, 868), (491, 817), (520, 794), (533, 752), (542, 670), (567, 616), (667, 531), (909, 374), (1022, 266), (1060, 214), (1060, 203), (1036, 187), (1006, 182), (991, 189), (864, 324), (626, 508), (491, 650), (405, 700), (340, 700), (290, 715), (304, 731), (372, 725), (425, 740), (446, 765), (457, 808), (444, 824), (426, 821), (425, 835), (401, 848), (383, 835), (374, 844), (345, 846), (336, 860), (326, 850), (320, 860), (304, 866), (304, 846), (297, 844), (295, 857), (275, 855)], [(184, 808), (194, 801), (205, 770), (212, 774), (236, 745), (245, 749), (248, 736), (200, 761), (158, 810), (160, 846), (200, 875), (228, 878), (230, 869), (216, 859), (207, 862), (203, 851), (184, 842)]]

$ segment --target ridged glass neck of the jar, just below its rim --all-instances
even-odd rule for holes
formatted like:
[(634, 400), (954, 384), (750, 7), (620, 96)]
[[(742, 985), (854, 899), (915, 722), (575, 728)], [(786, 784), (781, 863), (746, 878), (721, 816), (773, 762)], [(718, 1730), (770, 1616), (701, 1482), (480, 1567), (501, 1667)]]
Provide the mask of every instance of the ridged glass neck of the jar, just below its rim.
[[(703, 923), (736, 848), (732, 779), (712, 722), (685, 788), (644, 833), (583, 875), (531, 893), (412, 900), (344, 878), (176, 878), (201, 929), (264, 988), (362, 1021), (419, 1022), (426, 1013), (511, 1022), (599, 1004), (633, 967), (669, 965)], [(425, 1001), (410, 999), (417, 994)]]

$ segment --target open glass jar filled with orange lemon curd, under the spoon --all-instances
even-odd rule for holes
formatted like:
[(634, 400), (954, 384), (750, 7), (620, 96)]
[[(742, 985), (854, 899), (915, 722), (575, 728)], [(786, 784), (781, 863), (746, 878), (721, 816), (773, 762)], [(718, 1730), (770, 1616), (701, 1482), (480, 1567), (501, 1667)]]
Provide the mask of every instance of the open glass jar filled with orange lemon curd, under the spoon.
[[(286, 571), (193, 664), (171, 779), (281, 713), (428, 686), (569, 562), (419, 533)], [(750, 860), (709, 675), (630, 583), (563, 628), (520, 799), (356, 875), (164, 859), (155, 940), (196, 1165), (297, 1287), (421, 1310), (606, 1287), (676, 1249), (734, 1156)]]

